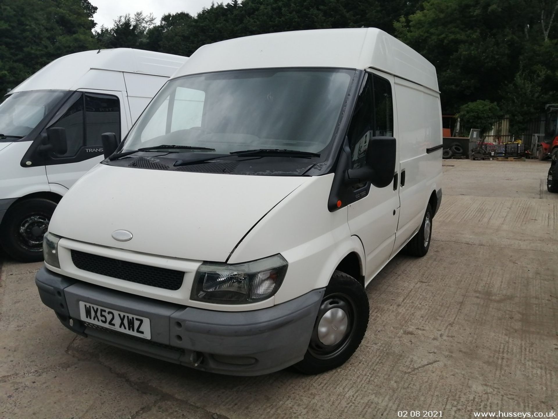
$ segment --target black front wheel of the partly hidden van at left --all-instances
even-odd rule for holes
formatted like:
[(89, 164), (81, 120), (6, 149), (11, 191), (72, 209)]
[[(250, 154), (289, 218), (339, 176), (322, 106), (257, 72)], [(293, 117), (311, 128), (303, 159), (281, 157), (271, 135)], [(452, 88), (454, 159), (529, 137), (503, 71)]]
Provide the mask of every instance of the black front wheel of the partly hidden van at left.
[(0, 226), (0, 242), (9, 256), (21, 262), (42, 260), (42, 237), (49, 228), (56, 202), (30, 198), (9, 207)]

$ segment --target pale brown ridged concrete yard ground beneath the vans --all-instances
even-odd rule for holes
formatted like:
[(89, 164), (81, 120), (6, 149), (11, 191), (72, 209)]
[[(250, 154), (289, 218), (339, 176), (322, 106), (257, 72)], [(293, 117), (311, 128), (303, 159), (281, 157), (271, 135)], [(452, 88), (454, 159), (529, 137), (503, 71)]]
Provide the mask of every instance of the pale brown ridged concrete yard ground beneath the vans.
[[(547, 162), (444, 161), (430, 252), (368, 287), (368, 332), (315, 377), (225, 377), (76, 337), (40, 264), (0, 273), (0, 418), (396, 418), (558, 409), (558, 194)], [(408, 414), (407, 417), (409, 417)]]

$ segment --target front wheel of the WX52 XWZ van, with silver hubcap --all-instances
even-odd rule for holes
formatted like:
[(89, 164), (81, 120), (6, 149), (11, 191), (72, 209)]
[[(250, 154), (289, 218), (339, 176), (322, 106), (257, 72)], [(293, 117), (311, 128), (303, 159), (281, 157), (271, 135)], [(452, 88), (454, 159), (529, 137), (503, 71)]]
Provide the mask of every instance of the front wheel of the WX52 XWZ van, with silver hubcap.
[(343, 365), (362, 342), (369, 311), (363, 286), (336, 270), (325, 289), (304, 359), (294, 368), (320, 374)]

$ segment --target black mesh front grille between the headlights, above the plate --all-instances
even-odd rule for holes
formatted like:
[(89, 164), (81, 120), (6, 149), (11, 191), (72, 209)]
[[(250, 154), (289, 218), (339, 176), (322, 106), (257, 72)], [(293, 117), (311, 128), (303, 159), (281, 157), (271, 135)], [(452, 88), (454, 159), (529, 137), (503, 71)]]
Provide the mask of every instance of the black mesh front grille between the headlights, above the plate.
[(184, 272), (179, 270), (105, 258), (78, 250), (71, 251), (71, 260), (76, 268), (87, 272), (137, 284), (150, 285), (150, 287), (172, 289), (173, 291), (182, 286), (182, 280), (184, 279)]

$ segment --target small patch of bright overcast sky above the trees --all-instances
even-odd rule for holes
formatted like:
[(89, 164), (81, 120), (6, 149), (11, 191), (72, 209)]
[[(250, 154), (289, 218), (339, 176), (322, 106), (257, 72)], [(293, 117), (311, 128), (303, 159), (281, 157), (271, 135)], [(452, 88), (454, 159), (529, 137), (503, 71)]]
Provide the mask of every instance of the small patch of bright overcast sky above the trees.
[[(101, 25), (112, 26), (113, 20), (120, 15), (142, 10), (146, 15), (153, 13), (157, 23), (165, 13), (188, 12), (196, 15), (203, 7), (210, 7), (211, 0), (89, 0), (93, 6), (97, 6), (97, 13), (93, 20), (97, 22), (95, 29)], [(215, 1), (222, 3), (223, 0)], [(227, 3), (227, 1), (224, 1)]]

